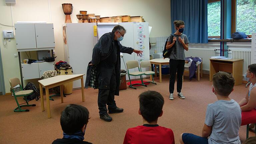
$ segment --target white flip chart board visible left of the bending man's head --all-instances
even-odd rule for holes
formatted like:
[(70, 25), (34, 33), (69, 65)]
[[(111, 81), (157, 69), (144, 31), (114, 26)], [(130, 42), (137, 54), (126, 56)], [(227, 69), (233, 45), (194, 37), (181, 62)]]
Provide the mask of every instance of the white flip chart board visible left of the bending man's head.
[(113, 28), (118, 25), (119, 23), (97, 23), (97, 33), (98, 33), (98, 38), (105, 33), (112, 32)]

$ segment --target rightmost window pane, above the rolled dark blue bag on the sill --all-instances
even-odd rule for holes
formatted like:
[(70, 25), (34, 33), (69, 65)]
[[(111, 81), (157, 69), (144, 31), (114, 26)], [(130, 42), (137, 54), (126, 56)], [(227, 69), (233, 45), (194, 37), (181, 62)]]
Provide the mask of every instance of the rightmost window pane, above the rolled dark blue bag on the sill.
[(237, 0), (236, 9), (236, 31), (245, 32), (247, 35), (256, 32), (256, 0)]

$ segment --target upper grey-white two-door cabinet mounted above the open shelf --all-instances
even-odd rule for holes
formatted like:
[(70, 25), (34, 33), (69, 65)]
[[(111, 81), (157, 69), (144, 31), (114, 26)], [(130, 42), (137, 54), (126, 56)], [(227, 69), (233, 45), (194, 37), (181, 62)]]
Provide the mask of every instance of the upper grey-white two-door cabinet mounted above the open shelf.
[(53, 24), (15, 24), (18, 51), (55, 47)]

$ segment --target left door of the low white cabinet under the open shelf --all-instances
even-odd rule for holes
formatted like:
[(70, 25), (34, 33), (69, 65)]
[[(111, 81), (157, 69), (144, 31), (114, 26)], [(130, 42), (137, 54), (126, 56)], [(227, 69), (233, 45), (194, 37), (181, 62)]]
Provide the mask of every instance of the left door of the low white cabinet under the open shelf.
[(21, 64), (23, 80), (39, 78), (38, 63)]

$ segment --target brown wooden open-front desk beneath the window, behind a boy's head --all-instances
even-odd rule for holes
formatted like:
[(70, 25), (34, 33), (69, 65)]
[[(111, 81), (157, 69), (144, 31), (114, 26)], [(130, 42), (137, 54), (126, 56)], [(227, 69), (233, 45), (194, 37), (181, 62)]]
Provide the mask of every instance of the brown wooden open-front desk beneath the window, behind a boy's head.
[(219, 71), (231, 73), (235, 79), (235, 85), (243, 83), (243, 62), (244, 59), (209, 59), (210, 60), (210, 81), (213, 75)]

